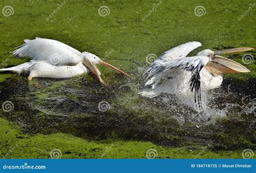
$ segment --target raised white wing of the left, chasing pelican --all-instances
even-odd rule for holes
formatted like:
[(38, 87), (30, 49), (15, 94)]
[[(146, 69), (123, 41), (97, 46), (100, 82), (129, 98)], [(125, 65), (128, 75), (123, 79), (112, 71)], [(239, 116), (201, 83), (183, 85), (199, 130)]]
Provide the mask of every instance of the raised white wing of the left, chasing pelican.
[(81, 52), (57, 40), (36, 38), (24, 40), (25, 44), (12, 52), (33, 61), (45, 61), (55, 66), (75, 66), (81, 61)]

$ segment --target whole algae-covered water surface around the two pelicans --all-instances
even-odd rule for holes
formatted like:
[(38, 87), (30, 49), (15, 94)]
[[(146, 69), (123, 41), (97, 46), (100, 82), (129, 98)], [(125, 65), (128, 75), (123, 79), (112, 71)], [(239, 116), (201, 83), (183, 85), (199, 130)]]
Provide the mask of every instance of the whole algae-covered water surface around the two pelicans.
[[(203, 112), (173, 95), (137, 95), (149, 55), (188, 41), (203, 44), (191, 55), (206, 48), (255, 48), (255, 12), (239, 20), (253, 4), (160, 2), (1, 2), (14, 9), (13, 15), (0, 17), (6, 33), (0, 36), (1, 67), (28, 61), (12, 57), (10, 51), (24, 39), (43, 37), (94, 53), (132, 75), (126, 78), (99, 67), (107, 83), (102, 85), (87, 74), (28, 82), (24, 75), (1, 72), (0, 103), (9, 104), (7, 111), (0, 111), (2, 155), (16, 143), (18, 149), (8, 157), (45, 158), (59, 148), (66, 158), (144, 158), (147, 149), (156, 148), (160, 158), (194, 158), (203, 147), (206, 158), (241, 158), (242, 150), (254, 149), (254, 59), (229, 56), (251, 73), (225, 75), (221, 87), (208, 92)], [(106, 15), (99, 12), (101, 6), (108, 7)], [(197, 6), (204, 6), (204, 15), (194, 12)]]

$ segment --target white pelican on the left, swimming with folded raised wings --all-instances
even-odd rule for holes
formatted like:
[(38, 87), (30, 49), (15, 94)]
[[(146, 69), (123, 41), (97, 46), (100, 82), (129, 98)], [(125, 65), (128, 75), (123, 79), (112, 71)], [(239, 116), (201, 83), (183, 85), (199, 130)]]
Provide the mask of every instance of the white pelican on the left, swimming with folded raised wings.
[[(36, 38), (24, 40), (25, 44), (12, 52), (19, 57), (29, 57), (30, 62), (25, 62), (15, 67), (2, 68), (0, 71), (29, 74), (28, 80), (33, 77), (69, 78), (83, 73), (95, 74), (99, 81), (104, 83), (96, 64), (103, 64), (117, 70), (120, 74), (129, 76), (122, 70), (113, 67), (89, 52), (79, 52), (76, 49), (57, 40)], [(84, 66), (85, 65), (85, 66)]]

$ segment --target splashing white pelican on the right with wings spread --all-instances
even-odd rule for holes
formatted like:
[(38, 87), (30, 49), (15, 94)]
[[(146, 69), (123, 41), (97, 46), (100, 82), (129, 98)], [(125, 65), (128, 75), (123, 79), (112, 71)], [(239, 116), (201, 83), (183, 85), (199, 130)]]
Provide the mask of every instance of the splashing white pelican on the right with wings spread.
[(138, 94), (153, 98), (160, 93), (169, 93), (180, 100), (186, 100), (186, 104), (192, 107), (196, 105), (196, 110), (201, 110), (201, 88), (205, 91), (218, 88), (223, 82), (223, 73), (250, 72), (241, 64), (219, 55), (251, 51), (253, 48), (233, 48), (217, 52), (205, 49), (197, 56), (186, 57), (200, 46), (200, 42), (191, 41), (163, 53), (146, 69), (143, 74), (146, 89)]

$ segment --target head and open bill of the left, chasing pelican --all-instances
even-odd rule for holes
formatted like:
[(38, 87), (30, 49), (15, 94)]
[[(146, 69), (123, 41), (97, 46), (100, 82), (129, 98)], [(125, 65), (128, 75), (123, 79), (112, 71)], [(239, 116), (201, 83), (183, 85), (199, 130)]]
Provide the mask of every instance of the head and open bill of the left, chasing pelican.
[[(96, 56), (95, 54), (89, 53), (89, 52), (83, 52), (81, 54), (82, 57), (82, 61), (83, 64), (89, 68), (91, 70), (91, 73), (95, 74), (97, 76), (97, 78), (99, 79), (100, 82), (102, 82), (104, 84), (104, 81), (102, 80), (102, 78), (100, 77), (100, 71), (99, 69), (96, 67), (97, 64), (103, 64), (104, 66), (110, 67), (114, 70), (117, 70), (118, 73), (123, 74), (125, 76), (129, 76), (128, 74), (124, 73), (124, 71), (112, 66), (109, 63), (106, 63), (102, 60), (100, 60), (100, 58), (98, 56)], [(130, 76), (129, 76), (130, 77)]]

